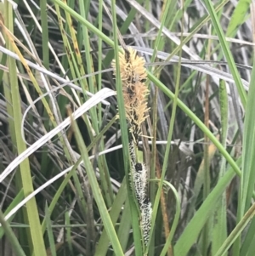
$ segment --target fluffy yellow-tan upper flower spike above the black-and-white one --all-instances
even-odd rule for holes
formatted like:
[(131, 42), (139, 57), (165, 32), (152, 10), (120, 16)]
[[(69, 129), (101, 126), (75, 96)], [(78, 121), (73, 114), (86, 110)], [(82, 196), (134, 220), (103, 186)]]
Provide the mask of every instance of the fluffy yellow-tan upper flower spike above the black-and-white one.
[[(129, 132), (137, 144), (141, 134), (141, 124), (146, 118), (145, 112), (149, 110), (146, 99), (149, 90), (144, 83), (147, 77), (144, 58), (139, 57), (133, 48), (127, 48), (124, 53), (119, 54), (119, 60)], [(116, 75), (115, 60), (112, 60), (111, 66)]]

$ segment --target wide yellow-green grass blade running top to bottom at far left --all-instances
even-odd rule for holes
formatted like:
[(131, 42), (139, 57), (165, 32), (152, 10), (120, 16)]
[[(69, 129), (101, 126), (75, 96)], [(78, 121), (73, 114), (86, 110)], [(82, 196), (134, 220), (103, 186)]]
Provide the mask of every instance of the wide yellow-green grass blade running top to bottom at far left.
[[(6, 22), (9, 31), (14, 30), (13, 25), (13, 9), (10, 3), (5, 3), (5, 10), (8, 14), (8, 21)], [(7, 48), (13, 49), (13, 42), (7, 39)], [(9, 68), (9, 82), (10, 82), (10, 91), (11, 91), (11, 102), (10, 104), (13, 107), (13, 117), (14, 117), (14, 131), (15, 139), (14, 145), (16, 144), (18, 154), (26, 151), (26, 144), (21, 136), (21, 102), (20, 102), (20, 91), (19, 83), (17, 80), (17, 71), (16, 71), (16, 61), (8, 56), (8, 68)], [(24, 196), (28, 196), (31, 191), (33, 191), (32, 179), (31, 179), (31, 169), (29, 159), (26, 158), (23, 162), (20, 163), (20, 169), (16, 174), (16, 181), (18, 184), (17, 189), (23, 188)], [(19, 189), (20, 188), (20, 189)], [(42, 237), (42, 231), (39, 228), (41, 226), (39, 214), (37, 210), (37, 202), (35, 197), (31, 198), (29, 202), (26, 203), (26, 208), (24, 208), (24, 214), (27, 218), (27, 224), (29, 224), (30, 229), (28, 230), (28, 237), (30, 243), (31, 254), (35, 253), (36, 255), (46, 256), (45, 246)]]

